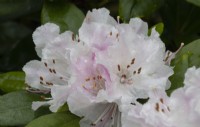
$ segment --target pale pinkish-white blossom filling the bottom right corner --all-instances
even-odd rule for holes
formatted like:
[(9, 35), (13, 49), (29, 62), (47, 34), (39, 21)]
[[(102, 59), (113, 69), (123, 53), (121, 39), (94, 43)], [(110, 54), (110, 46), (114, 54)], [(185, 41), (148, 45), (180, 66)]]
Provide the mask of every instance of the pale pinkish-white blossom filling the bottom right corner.
[(170, 97), (163, 90), (154, 91), (141, 105), (124, 105), (123, 127), (199, 127), (200, 125), (200, 68), (189, 68), (185, 86)]

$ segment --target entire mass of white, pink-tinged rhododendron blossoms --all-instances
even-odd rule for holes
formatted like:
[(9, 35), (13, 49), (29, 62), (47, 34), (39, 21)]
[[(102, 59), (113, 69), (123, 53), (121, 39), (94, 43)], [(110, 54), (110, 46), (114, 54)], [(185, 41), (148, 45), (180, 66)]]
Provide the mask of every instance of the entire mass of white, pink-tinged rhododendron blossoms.
[(81, 127), (199, 127), (200, 69), (189, 69), (185, 86), (168, 97), (174, 54), (141, 19), (119, 23), (107, 9), (94, 9), (78, 35), (47, 23), (33, 41), (41, 61), (24, 66), (26, 83), (52, 96), (33, 102), (34, 110), (50, 105), (56, 112), (67, 103), (83, 117)]

